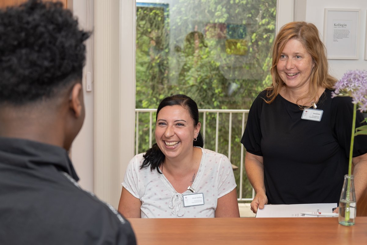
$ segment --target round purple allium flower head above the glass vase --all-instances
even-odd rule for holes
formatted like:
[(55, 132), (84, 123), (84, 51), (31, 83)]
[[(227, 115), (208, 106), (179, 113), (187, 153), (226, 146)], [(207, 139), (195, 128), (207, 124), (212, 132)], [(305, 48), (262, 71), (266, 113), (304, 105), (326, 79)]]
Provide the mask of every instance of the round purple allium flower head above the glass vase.
[(335, 93), (331, 97), (350, 96), (353, 103), (359, 105), (361, 112), (367, 110), (367, 71), (347, 71), (334, 85)]

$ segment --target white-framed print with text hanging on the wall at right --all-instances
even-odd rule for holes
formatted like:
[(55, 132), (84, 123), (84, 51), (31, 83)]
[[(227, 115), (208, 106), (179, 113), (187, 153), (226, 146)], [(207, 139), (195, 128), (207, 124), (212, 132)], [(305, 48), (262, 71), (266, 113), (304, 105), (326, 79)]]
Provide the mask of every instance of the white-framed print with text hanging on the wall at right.
[(360, 9), (325, 8), (324, 44), (328, 59), (358, 60)]

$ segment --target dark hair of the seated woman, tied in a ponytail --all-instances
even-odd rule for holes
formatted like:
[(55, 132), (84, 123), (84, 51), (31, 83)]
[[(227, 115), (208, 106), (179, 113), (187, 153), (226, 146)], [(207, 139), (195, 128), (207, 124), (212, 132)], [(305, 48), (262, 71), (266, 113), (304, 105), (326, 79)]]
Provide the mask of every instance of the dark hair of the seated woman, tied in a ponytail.
[[(164, 98), (157, 108), (156, 120), (158, 112), (163, 107), (172, 105), (181, 105), (183, 108), (187, 109), (189, 111), (191, 118), (194, 121), (194, 126), (196, 126), (199, 123), (199, 109), (197, 108), (196, 102), (192, 98), (184, 94), (175, 94)], [(197, 135), (196, 140), (194, 141), (193, 139), (192, 145), (198, 147), (204, 146), (204, 137), (201, 135), (200, 131), (199, 134)], [(145, 152), (143, 158), (144, 161), (140, 166), (140, 169), (142, 169), (143, 167), (148, 167), (150, 165), (150, 171), (153, 171), (153, 169), (157, 169), (158, 173), (161, 173), (159, 170), (159, 166), (163, 163), (166, 156), (159, 149), (157, 143), (153, 144), (152, 148), (148, 149)]]

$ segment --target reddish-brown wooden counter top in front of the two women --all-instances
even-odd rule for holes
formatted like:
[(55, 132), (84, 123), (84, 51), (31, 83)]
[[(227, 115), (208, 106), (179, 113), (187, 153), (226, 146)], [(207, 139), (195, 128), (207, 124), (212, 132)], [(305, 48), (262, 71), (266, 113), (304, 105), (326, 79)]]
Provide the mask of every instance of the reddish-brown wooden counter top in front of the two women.
[(354, 226), (325, 218), (128, 219), (138, 245), (367, 244), (367, 217)]

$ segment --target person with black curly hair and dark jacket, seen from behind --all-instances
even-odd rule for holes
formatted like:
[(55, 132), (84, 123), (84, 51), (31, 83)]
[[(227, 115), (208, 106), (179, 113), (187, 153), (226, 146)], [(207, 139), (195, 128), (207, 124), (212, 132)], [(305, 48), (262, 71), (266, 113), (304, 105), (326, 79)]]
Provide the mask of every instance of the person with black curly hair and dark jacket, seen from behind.
[(130, 223), (79, 187), (68, 156), (89, 36), (60, 2), (0, 9), (0, 244), (136, 244)]

